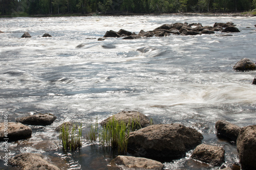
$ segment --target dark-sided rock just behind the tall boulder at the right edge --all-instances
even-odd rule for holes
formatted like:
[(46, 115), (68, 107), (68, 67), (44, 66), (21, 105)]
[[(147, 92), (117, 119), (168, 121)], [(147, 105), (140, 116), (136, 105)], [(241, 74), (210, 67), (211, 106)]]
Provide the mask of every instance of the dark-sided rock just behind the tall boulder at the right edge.
[(233, 141), (237, 141), (241, 130), (239, 126), (233, 125), (226, 120), (218, 120), (215, 124), (215, 128), (217, 129), (218, 134)]

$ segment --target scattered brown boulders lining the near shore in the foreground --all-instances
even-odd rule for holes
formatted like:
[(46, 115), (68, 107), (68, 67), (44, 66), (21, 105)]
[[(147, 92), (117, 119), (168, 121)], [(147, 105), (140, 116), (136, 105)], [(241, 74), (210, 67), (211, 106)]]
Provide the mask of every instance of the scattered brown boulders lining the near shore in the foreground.
[[(111, 162), (112, 169), (163, 169), (161, 162), (172, 161), (185, 156), (189, 150), (194, 150), (191, 159), (204, 162), (211, 166), (223, 167), (225, 151), (223, 146), (218, 144), (209, 145), (202, 143), (203, 135), (196, 129), (185, 127), (181, 124), (156, 124), (150, 125), (150, 119), (144, 114), (136, 111), (122, 111), (113, 116), (117, 121), (140, 117), (139, 122), (144, 124), (142, 129), (130, 132), (128, 148), (132, 156), (117, 156)], [(119, 118), (118, 118), (119, 117)], [(17, 118), (17, 122), (8, 123), (8, 137), (12, 140), (28, 139), (32, 134), (30, 125), (50, 125), (56, 119), (52, 114), (36, 114)], [(103, 120), (102, 125), (111, 117)], [(41, 124), (41, 122), (47, 122)], [(72, 125), (72, 124), (71, 124)], [(4, 138), (4, 123), (0, 126), (0, 141)], [(217, 136), (221, 135), (227, 141), (237, 144), (241, 169), (256, 168), (256, 125), (238, 127), (226, 120), (216, 122)], [(23, 131), (20, 131), (23, 130)], [(26, 132), (24, 132), (26, 131)], [(26, 135), (25, 135), (26, 134)], [(23, 136), (20, 137), (20, 136)], [(134, 157), (134, 156), (136, 157)], [(20, 169), (60, 169), (52, 164), (49, 158), (41, 154), (24, 153), (15, 155), (9, 162), (10, 165)], [(236, 164), (237, 162), (234, 162)], [(236, 165), (237, 167), (238, 165)]]

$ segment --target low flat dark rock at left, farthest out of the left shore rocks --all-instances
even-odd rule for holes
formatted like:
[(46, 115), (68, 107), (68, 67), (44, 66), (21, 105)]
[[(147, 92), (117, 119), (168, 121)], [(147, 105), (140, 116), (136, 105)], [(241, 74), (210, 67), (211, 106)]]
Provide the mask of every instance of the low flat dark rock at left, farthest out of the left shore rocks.
[(26, 117), (19, 117), (16, 119), (16, 122), (22, 123), (22, 124), (27, 124), (27, 125), (41, 125), (41, 126), (47, 126), (51, 125), (54, 120), (57, 117), (54, 116), (53, 114), (34, 114), (31, 116), (26, 116)]

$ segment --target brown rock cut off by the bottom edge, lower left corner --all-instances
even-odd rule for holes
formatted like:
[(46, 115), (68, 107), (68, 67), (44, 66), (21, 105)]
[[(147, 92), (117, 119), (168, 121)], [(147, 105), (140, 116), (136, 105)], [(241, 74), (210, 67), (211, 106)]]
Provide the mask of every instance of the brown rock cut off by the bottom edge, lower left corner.
[(12, 166), (19, 169), (33, 169), (33, 170), (60, 170), (57, 166), (50, 163), (47, 158), (41, 154), (23, 153), (11, 158), (8, 162)]

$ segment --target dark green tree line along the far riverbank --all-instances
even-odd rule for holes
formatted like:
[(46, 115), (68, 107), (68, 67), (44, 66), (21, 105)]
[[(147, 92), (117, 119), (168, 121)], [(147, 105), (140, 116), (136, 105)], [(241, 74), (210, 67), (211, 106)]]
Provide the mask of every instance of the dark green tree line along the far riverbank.
[(256, 8), (256, 0), (0, 0), (1, 15), (87, 13), (236, 12)]

